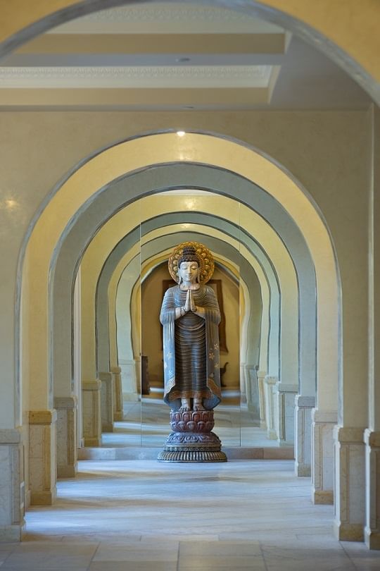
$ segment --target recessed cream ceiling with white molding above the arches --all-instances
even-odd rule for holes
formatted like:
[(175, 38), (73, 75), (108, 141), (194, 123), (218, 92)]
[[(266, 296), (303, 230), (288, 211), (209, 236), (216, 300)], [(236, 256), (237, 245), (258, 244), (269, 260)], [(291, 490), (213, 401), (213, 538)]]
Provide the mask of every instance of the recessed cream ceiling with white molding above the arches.
[(135, 4), (50, 30), (0, 67), (1, 109), (364, 109), (289, 32), (225, 8)]

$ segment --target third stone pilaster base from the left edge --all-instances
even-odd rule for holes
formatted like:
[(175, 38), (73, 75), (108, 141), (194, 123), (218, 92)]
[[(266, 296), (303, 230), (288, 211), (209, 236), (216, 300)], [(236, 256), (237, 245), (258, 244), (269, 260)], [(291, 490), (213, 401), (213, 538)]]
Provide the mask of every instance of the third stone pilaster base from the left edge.
[(57, 477), (73, 478), (77, 473), (77, 398), (56, 397)]

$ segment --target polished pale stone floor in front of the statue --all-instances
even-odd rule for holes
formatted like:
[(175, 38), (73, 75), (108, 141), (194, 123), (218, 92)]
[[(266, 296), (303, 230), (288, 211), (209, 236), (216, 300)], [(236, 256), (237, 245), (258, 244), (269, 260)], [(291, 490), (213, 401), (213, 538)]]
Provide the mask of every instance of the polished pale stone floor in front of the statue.
[(289, 460), (87, 460), (27, 512), (22, 544), (0, 544), (0, 571), (380, 570), (332, 518)]

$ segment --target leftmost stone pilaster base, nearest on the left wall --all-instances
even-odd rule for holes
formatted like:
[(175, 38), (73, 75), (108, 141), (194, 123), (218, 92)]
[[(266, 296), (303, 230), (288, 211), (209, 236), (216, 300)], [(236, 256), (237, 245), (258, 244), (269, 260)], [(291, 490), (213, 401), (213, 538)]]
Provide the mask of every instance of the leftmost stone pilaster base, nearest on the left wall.
[(20, 541), (25, 505), (21, 432), (0, 429), (0, 541)]

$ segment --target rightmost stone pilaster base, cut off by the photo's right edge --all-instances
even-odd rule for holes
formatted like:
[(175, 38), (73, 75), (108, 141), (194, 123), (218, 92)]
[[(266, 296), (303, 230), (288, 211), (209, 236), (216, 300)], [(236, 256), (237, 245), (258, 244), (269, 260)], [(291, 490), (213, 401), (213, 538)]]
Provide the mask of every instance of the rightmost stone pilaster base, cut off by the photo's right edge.
[(365, 430), (365, 543), (380, 549), (380, 432)]

